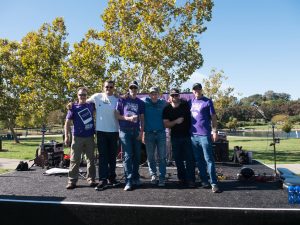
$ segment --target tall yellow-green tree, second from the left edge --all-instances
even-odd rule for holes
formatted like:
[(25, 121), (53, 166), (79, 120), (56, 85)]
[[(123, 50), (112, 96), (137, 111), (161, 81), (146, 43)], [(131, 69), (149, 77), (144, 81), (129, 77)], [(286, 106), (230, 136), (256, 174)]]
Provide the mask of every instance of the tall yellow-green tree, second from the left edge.
[(68, 80), (62, 73), (69, 54), (66, 35), (64, 20), (56, 18), (22, 39), (19, 57), (25, 71), (17, 74), (14, 82), (23, 89), (19, 121), (24, 124), (46, 124), (49, 112), (62, 108), (66, 102)]

